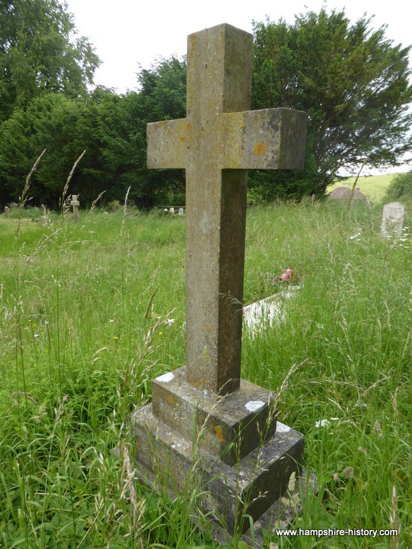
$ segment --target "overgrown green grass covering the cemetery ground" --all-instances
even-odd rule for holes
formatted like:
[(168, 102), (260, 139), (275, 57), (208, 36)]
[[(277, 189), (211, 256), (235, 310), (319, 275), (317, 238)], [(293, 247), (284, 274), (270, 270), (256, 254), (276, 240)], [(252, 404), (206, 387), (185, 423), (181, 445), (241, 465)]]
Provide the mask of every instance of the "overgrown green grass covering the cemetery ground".
[[(272, 549), (411, 546), (412, 230), (381, 237), (381, 214), (312, 201), (248, 211), (244, 304), (286, 268), (302, 285), (242, 346), (242, 377), (279, 392), (279, 421), (306, 436), (318, 493), (293, 525), (399, 530), (267, 532)], [(49, 218), (18, 231), (0, 216), (0, 546), (217, 547), (207, 519), (190, 520), (193, 484), (174, 501), (139, 484), (128, 423), (150, 379), (185, 362), (184, 217)]]

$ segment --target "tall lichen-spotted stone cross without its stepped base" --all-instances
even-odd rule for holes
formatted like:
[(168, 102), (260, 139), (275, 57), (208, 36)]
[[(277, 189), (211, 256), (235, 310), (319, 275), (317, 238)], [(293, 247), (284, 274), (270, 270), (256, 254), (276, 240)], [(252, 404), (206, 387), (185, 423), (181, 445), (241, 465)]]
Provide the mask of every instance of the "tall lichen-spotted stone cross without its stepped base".
[(253, 37), (223, 24), (187, 38), (187, 116), (148, 124), (148, 167), (186, 170), (187, 381), (240, 385), (248, 169), (304, 166), (306, 113), (247, 110)]

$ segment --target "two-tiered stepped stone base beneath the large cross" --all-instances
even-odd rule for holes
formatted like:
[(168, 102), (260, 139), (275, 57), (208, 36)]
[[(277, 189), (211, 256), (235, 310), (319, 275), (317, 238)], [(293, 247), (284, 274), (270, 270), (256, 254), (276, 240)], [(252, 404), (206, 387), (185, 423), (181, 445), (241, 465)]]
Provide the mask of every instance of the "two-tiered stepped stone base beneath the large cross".
[(247, 535), (246, 515), (257, 522), (279, 513), (290, 476), (301, 473), (303, 436), (279, 422), (276, 429), (270, 391), (242, 382), (226, 397), (205, 395), (184, 373), (154, 380), (153, 404), (133, 414), (137, 471), (172, 497), (197, 487), (216, 539)]

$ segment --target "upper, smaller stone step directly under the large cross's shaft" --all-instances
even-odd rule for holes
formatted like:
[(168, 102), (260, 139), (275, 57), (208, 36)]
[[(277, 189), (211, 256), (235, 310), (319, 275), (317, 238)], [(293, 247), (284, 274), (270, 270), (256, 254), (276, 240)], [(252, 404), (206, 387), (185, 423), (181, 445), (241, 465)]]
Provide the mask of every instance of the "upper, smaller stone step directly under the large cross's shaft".
[(274, 397), (244, 379), (239, 390), (219, 397), (187, 383), (185, 368), (152, 380), (155, 417), (229, 465), (274, 434)]

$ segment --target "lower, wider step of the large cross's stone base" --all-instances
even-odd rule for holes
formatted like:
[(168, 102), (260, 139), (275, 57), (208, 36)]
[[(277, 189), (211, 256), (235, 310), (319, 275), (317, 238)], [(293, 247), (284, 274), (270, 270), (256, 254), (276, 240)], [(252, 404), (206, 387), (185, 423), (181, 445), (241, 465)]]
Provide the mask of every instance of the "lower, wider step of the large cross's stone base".
[(292, 429), (274, 434), (233, 467), (159, 421), (151, 406), (133, 414), (133, 430), (142, 480), (159, 490), (157, 482), (165, 479), (173, 497), (198, 487), (204, 511), (230, 535), (249, 528), (244, 515), (258, 520), (279, 499), (302, 462), (303, 437)]

